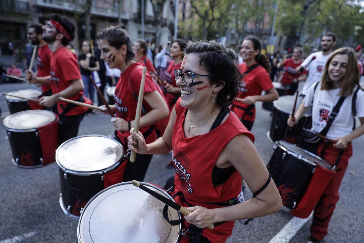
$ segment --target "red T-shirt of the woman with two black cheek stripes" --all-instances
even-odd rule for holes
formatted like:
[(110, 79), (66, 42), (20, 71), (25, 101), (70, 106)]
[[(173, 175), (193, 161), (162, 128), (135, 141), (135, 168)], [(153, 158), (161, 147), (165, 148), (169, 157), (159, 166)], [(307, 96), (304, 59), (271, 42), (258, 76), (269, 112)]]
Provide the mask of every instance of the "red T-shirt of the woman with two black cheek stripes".
[[(132, 121), (135, 119), (135, 113), (137, 112), (138, 95), (140, 89), (140, 83), (142, 80), (143, 64), (135, 62), (131, 64), (121, 75), (118, 83), (115, 87), (115, 107), (116, 107), (116, 117), (123, 118), (125, 121)], [(145, 75), (145, 85), (144, 85), (144, 95), (147, 92), (153, 92), (158, 90), (157, 84), (153, 82), (150, 74), (146, 72)], [(136, 99), (136, 98), (137, 99)], [(150, 105), (143, 99), (143, 107), (147, 111), (151, 110)], [(143, 109), (142, 114), (143, 116)], [(139, 128), (141, 133), (145, 133), (151, 125)], [(130, 136), (129, 131), (117, 131), (120, 141), (126, 142), (126, 138)], [(157, 139), (157, 135), (153, 129), (153, 132), (145, 138), (147, 144), (153, 142)], [(127, 145), (127, 144), (124, 144)]]

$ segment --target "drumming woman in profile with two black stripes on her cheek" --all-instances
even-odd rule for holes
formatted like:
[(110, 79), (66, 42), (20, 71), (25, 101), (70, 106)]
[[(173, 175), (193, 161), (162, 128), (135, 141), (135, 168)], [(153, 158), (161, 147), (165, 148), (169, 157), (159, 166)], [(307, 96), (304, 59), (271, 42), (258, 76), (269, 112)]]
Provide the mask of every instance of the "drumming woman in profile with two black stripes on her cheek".
[[(144, 65), (134, 60), (130, 36), (119, 26), (105, 28), (96, 35), (96, 39), (101, 51), (100, 58), (110, 68), (118, 68), (121, 71), (115, 88), (115, 105), (110, 105), (110, 108), (116, 113), (116, 117), (111, 118), (111, 124), (115, 127), (114, 138), (123, 145), (124, 153), (126, 153), (127, 137), (130, 135), (130, 128), (135, 124), (134, 118)], [(100, 108), (107, 113), (105, 106)], [(157, 139), (153, 124), (168, 115), (169, 110), (165, 98), (162, 97), (161, 89), (153, 82), (149, 72), (146, 72), (139, 132), (146, 137), (147, 142)], [(117, 169), (106, 173), (104, 181), (107, 181), (107, 185), (122, 181), (143, 181), (151, 158), (151, 154), (137, 154), (134, 163), (124, 161)]]

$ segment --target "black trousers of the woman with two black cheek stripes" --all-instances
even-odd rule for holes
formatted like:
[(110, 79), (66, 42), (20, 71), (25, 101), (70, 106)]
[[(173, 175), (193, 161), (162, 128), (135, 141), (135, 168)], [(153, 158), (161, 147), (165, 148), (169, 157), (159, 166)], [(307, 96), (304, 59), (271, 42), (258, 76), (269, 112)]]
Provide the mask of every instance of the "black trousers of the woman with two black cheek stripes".
[[(119, 137), (115, 133), (114, 139), (119, 141), (125, 148), (124, 142), (120, 141)], [(152, 157), (153, 154), (136, 154), (134, 163), (128, 160), (124, 173), (124, 181), (144, 181), (144, 177), (147, 173)]]

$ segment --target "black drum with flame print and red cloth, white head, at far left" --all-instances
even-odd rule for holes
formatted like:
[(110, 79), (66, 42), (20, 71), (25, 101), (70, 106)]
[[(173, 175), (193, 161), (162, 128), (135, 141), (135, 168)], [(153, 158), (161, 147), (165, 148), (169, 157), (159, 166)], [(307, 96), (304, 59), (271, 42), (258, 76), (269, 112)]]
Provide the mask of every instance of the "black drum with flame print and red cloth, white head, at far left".
[(35, 168), (55, 161), (59, 124), (53, 112), (20, 111), (6, 117), (3, 125), (9, 137), (15, 165)]

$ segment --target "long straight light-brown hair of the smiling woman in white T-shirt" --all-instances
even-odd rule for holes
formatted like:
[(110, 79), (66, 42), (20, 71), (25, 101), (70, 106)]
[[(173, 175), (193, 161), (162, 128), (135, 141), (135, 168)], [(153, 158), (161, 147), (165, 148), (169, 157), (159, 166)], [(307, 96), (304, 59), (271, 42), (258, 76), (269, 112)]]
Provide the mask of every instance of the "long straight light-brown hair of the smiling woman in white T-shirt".
[(329, 65), (336, 55), (348, 55), (348, 66), (346, 68), (343, 80), (341, 81), (340, 93), (339, 96), (348, 97), (354, 91), (355, 86), (359, 86), (359, 68), (357, 65), (357, 58), (353, 48), (351, 47), (342, 47), (335, 50), (329, 59), (327, 60), (324, 68), (324, 75), (321, 79), (321, 90), (330, 90), (334, 89), (333, 82), (329, 77), (328, 69)]

